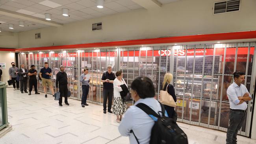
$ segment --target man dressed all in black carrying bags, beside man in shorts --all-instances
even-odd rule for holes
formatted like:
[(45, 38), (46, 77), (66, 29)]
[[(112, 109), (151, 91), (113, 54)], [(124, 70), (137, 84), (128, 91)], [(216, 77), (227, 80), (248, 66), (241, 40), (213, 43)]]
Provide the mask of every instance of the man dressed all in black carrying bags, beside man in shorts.
[(56, 74), (56, 90), (60, 92), (60, 98), (59, 98), (59, 106), (62, 107), (62, 97), (65, 97), (65, 104), (69, 105), (68, 103), (68, 78), (67, 78), (67, 73), (64, 72), (64, 66), (60, 66), (60, 71), (58, 74)]

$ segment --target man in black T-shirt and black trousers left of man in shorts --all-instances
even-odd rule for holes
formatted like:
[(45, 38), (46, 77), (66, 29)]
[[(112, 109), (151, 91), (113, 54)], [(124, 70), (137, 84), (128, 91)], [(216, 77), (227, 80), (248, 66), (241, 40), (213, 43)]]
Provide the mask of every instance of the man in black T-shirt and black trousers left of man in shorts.
[(37, 92), (37, 70), (35, 70), (35, 65), (31, 65), (30, 70), (28, 70), (29, 76), (29, 93), (31, 95), (32, 88), (34, 86), (35, 94), (40, 94)]

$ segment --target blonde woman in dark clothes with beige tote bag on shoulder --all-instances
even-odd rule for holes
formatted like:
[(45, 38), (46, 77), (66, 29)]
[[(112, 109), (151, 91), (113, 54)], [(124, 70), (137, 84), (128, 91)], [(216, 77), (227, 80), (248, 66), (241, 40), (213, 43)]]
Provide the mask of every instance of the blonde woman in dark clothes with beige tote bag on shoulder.
[[(165, 110), (167, 111), (168, 116), (170, 118), (174, 118), (174, 114), (175, 114), (174, 107), (176, 106), (176, 103), (175, 103), (176, 102), (176, 95), (175, 95), (173, 85), (171, 84), (171, 81), (173, 81), (173, 75), (171, 73), (166, 73), (165, 77), (163, 78), (163, 85), (162, 85), (162, 90), (160, 91), (159, 101), (161, 103), (163, 103), (163, 106), (165, 107)], [(165, 91), (167, 91), (168, 94)], [(167, 95), (173, 97), (173, 98), (168, 99), (172, 102), (166, 102), (166, 100), (167, 100), (166, 96)], [(174, 100), (174, 102), (173, 102), (173, 100)]]

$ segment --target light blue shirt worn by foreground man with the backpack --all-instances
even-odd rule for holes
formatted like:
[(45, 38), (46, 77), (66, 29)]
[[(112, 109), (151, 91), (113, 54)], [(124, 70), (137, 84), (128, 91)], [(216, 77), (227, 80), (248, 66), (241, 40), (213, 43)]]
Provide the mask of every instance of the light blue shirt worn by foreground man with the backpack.
[[(138, 103), (145, 103), (156, 113), (161, 111), (160, 103), (154, 98), (139, 99), (134, 105), (137, 105)], [(129, 136), (130, 144), (137, 144), (133, 133), (130, 133), (131, 130), (134, 131), (140, 144), (149, 144), (153, 126), (154, 120), (148, 116), (148, 114), (142, 111), (139, 107), (130, 106), (122, 118), (118, 130), (122, 136)]]

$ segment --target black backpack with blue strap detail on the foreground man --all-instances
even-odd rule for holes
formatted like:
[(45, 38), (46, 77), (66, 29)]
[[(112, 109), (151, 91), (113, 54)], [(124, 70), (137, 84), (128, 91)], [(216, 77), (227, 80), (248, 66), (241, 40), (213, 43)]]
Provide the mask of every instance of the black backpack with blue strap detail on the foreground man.
[[(165, 108), (161, 103), (160, 105), (162, 111), (159, 111), (158, 114), (144, 103), (138, 103), (136, 105), (136, 107), (142, 109), (155, 121), (151, 130), (150, 144), (188, 144), (187, 135), (180, 129), (173, 118), (165, 116)], [(160, 113), (162, 113), (162, 116)], [(134, 134), (132, 130), (131, 133)], [(135, 134), (134, 137), (139, 144)]]

